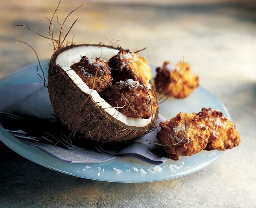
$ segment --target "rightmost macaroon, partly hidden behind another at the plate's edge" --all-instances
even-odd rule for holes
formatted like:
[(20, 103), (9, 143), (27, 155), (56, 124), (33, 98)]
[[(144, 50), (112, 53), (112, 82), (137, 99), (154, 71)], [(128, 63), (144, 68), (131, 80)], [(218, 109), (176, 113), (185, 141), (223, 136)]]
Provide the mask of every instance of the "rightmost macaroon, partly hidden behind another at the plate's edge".
[(239, 132), (222, 112), (203, 108), (197, 115), (203, 118), (211, 132), (206, 150), (218, 149), (223, 151), (239, 145)]

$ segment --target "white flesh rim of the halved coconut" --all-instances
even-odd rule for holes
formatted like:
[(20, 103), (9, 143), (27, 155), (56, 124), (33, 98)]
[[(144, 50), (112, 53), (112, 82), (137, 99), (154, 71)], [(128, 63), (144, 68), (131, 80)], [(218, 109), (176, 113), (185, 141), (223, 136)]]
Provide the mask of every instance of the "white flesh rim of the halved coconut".
[[(79, 77), (79, 75), (77, 75), (76, 72), (70, 68), (73, 63), (77, 63), (81, 60), (81, 56), (86, 56), (88, 58), (100, 57), (104, 61), (108, 62), (109, 59), (111, 59), (111, 57), (116, 55), (118, 52), (119, 50), (117, 49), (104, 46), (78, 46), (60, 53), (56, 59), (56, 64), (61, 66), (61, 68), (82, 92), (90, 95), (96, 105), (100, 106), (103, 110), (105, 110), (105, 112), (109, 113), (116, 120), (119, 120), (128, 126), (145, 127), (151, 123), (151, 118), (144, 119), (125, 116), (109, 105), (109, 103), (107, 103), (103, 98), (101, 98), (96, 90), (90, 89), (87, 84), (83, 82), (81, 77)], [(148, 87), (150, 87), (150, 85)], [(155, 114), (153, 115), (153, 118), (154, 117)]]

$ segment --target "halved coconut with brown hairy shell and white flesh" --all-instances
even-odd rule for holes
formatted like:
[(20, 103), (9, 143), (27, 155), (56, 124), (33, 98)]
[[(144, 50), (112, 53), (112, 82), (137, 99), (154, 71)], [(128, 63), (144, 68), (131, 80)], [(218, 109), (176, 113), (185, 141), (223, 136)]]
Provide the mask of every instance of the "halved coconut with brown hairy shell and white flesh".
[[(131, 118), (107, 103), (70, 68), (81, 56), (109, 61), (120, 48), (103, 45), (72, 45), (53, 54), (49, 64), (48, 91), (61, 123), (75, 138), (93, 142), (125, 142), (147, 133), (155, 125), (152, 118)], [(75, 139), (74, 138), (74, 139)]]

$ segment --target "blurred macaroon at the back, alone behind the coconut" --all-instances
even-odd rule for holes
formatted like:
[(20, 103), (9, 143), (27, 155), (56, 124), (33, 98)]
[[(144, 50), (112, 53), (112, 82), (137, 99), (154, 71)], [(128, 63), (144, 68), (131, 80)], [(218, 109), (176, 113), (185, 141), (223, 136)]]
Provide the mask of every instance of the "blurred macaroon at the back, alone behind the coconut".
[(186, 98), (199, 86), (199, 77), (190, 70), (190, 65), (180, 61), (178, 64), (164, 62), (157, 68), (155, 77), (157, 92), (175, 98)]

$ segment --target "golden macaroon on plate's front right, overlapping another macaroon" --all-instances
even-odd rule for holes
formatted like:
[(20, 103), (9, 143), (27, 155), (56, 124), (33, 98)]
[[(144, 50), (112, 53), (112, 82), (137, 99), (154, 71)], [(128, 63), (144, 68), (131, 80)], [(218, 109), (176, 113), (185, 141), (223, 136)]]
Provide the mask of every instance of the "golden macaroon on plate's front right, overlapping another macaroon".
[(160, 127), (157, 139), (160, 144), (171, 145), (165, 146), (164, 151), (172, 160), (200, 152), (206, 147), (210, 135), (204, 120), (195, 113), (180, 112), (170, 121), (160, 122)]

